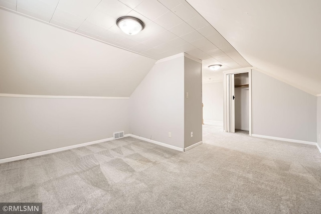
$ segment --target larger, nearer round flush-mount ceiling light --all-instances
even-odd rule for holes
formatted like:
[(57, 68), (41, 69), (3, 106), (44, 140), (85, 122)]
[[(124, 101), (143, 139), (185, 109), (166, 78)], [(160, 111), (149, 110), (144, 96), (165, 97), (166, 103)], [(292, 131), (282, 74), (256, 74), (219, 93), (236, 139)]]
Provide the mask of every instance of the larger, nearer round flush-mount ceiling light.
[(144, 23), (135, 17), (120, 17), (116, 21), (117, 26), (128, 35), (138, 34), (144, 29)]

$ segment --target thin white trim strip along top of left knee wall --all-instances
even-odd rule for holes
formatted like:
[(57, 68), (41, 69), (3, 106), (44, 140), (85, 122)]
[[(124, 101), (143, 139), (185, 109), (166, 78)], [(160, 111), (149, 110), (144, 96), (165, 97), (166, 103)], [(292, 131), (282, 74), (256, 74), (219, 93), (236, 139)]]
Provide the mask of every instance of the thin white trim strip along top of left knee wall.
[(51, 98), (51, 99), (129, 99), (129, 97), (112, 97), (112, 96), (53, 96), (53, 95), (30, 95), (30, 94), (13, 94), (0, 93), (0, 97), (24, 97), (24, 98)]

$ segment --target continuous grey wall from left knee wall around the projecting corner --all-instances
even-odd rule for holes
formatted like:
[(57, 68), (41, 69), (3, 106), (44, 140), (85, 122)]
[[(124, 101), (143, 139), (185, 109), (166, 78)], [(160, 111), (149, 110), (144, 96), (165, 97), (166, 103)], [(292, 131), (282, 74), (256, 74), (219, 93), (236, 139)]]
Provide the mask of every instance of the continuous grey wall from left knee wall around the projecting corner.
[(0, 159), (118, 131), (184, 149), (202, 141), (201, 79), (201, 63), (181, 54), (155, 64), (129, 99), (0, 97)]

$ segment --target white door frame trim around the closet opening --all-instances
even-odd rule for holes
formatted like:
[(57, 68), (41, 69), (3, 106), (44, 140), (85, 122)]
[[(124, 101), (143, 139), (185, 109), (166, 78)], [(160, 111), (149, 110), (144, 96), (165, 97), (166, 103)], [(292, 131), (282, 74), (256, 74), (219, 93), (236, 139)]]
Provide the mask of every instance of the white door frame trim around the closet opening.
[(249, 74), (249, 136), (252, 136), (252, 68), (240, 68), (235, 70), (223, 71), (223, 90), (224, 90), (224, 132), (227, 132), (227, 127), (230, 123), (227, 112), (230, 111), (227, 105), (228, 96), (228, 85), (227, 75), (229, 74), (239, 74), (248, 73)]

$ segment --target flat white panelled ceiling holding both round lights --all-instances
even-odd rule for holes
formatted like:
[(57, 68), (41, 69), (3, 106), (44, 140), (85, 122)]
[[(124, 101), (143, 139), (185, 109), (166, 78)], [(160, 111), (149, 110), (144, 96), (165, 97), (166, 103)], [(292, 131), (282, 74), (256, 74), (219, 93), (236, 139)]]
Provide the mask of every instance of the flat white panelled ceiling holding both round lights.
[[(153, 59), (186, 52), (203, 60), (205, 81), (251, 66), (185, 0), (0, 0), (0, 6)], [(126, 35), (115, 24), (121, 16), (146, 27)], [(211, 64), (223, 66), (213, 72)]]

